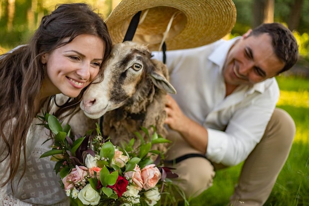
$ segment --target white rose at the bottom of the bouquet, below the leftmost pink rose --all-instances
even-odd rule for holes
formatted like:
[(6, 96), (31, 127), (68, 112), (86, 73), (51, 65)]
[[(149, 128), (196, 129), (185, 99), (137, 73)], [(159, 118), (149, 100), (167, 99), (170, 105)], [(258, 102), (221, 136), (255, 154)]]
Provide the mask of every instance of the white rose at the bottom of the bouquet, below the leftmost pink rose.
[(100, 201), (100, 194), (95, 191), (90, 184), (87, 184), (84, 188), (82, 188), (78, 193), (78, 199), (84, 205), (98, 205)]

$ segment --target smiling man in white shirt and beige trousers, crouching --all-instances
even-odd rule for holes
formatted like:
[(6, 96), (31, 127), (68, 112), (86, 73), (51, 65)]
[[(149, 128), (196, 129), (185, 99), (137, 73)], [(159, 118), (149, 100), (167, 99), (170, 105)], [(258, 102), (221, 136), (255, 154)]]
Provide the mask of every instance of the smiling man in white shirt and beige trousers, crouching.
[(274, 77), (297, 59), (295, 38), (279, 23), (262, 24), (230, 41), (166, 53), (177, 90), (166, 104), (173, 141), (167, 159), (173, 160), (176, 183), (187, 197), (210, 187), (216, 169), (244, 161), (229, 205), (266, 202), (295, 135), (292, 118), (275, 109)]

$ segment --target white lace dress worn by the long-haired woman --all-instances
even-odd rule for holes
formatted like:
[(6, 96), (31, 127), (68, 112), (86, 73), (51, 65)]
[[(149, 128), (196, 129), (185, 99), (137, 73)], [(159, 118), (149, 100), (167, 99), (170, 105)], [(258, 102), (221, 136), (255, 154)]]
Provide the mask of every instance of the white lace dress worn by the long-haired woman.
[[(53, 170), (55, 162), (50, 157), (39, 159), (40, 155), (50, 150), (51, 141), (42, 144), (47, 139), (48, 131), (35, 118), (27, 134), (27, 167), (24, 176), (18, 183), (19, 172), (14, 181), (14, 193), (11, 185), (0, 188), (0, 206), (70, 206), (65, 191), (60, 187), (60, 177)], [(3, 145), (0, 140), (0, 147)], [(6, 161), (0, 163), (0, 182), (6, 179), (4, 170)], [(24, 165), (23, 158), (21, 165)]]

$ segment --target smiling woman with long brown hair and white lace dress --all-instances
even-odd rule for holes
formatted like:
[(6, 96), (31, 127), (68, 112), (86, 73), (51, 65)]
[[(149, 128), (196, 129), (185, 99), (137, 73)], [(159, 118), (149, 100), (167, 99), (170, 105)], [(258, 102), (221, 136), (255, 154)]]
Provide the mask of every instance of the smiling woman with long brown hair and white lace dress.
[(53, 163), (39, 159), (48, 148), (36, 116), (49, 112), (57, 93), (72, 98), (63, 108), (74, 109), (103, 74), (111, 47), (101, 15), (73, 3), (44, 16), (29, 44), (0, 56), (0, 206), (69, 204)]

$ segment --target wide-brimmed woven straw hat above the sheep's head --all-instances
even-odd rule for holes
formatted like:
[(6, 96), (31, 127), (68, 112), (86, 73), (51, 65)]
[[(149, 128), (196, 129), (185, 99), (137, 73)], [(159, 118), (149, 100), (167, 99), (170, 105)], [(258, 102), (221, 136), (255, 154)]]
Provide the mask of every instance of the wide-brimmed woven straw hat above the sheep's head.
[(167, 50), (217, 41), (231, 32), (236, 21), (232, 0), (122, 0), (106, 19), (113, 43), (123, 41), (139, 11), (140, 23), (132, 41), (152, 51), (161, 49), (162, 40)]

